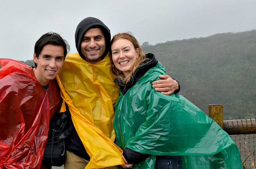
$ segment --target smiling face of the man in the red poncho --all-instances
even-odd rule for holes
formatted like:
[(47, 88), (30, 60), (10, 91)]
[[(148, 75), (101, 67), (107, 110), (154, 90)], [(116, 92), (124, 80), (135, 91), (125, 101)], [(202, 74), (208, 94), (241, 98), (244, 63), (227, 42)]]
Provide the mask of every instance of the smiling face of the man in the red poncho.
[(64, 64), (64, 49), (62, 46), (47, 44), (36, 57), (34, 53), (34, 62), (37, 67), (33, 69), (37, 81), (41, 85), (47, 85), (54, 79)]

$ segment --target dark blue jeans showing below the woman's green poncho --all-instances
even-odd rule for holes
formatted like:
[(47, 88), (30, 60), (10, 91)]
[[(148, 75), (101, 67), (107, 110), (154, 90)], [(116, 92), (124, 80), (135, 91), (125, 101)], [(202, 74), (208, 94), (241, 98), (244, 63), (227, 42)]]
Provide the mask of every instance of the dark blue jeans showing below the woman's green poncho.
[(158, 156), (155, 169), (181, 169), (181, 156)]

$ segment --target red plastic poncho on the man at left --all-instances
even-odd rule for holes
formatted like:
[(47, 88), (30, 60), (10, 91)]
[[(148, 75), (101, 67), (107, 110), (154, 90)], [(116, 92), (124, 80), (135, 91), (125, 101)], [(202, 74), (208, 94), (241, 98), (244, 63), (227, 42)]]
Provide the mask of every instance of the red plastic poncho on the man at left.
[(0, 168), (40, 168), (60, 89), (54, 79), (45, 90), (21, 62), (0, 59), (0, 65)]

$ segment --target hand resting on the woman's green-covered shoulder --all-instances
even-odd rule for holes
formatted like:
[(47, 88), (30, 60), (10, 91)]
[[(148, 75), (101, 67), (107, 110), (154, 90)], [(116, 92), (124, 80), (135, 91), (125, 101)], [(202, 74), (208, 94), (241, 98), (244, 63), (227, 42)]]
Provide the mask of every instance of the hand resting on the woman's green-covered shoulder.
[(155, 91), (161, 92), (165, 95), (171, 95), (174, 91), (178, 90), (178, 83), (176, 80), (173, 80), (169, 75), (160, 75), (161, 79), (152, 83), (152, 87), (155, 88)]

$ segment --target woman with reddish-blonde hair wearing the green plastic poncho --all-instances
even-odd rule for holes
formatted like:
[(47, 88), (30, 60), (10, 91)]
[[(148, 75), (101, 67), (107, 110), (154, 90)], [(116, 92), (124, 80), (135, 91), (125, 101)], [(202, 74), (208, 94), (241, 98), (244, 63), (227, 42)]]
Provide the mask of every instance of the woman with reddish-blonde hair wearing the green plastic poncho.
[(111, 40), (111, 64), (120, 86), (115, 104), (116, 144), (125, 168), (242, 168), (238, 148), (210, 117), (179, 94), (163, 95), (152, 82), (165, 74), (129, 33)]

